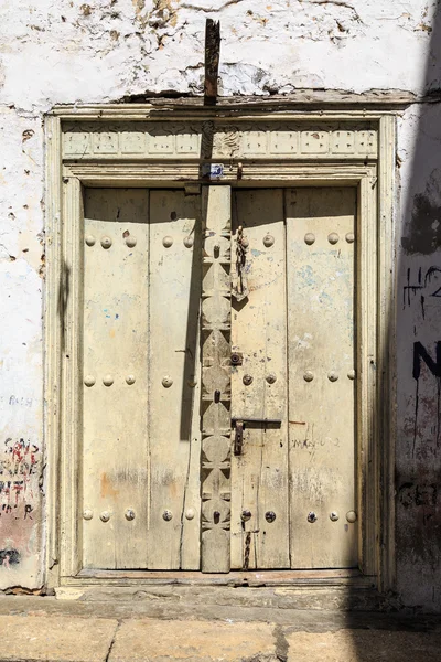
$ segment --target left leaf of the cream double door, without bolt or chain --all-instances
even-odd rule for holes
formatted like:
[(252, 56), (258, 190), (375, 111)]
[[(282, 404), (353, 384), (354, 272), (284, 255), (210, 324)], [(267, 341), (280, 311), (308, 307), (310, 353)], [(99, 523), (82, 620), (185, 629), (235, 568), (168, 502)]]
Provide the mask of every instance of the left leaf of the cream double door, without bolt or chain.
[(85, 193), (84, 567), (200, 567), (200, 199)]

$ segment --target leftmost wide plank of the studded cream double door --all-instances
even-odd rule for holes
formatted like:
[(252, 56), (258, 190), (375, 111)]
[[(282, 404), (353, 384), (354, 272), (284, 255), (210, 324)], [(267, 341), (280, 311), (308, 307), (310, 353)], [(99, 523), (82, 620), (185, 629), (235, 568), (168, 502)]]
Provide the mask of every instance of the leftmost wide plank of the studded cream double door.
[(148, 191), (85, 192), (84, 567), (147, 566)]

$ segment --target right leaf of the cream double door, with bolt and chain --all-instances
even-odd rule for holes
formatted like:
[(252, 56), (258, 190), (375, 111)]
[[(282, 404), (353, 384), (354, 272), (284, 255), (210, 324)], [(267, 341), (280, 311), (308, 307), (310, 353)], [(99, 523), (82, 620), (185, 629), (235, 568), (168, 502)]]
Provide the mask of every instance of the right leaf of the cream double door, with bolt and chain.
[(356, 191), (234, 201), (248, 296), (232, 305), (232, 567), (355, 567)]

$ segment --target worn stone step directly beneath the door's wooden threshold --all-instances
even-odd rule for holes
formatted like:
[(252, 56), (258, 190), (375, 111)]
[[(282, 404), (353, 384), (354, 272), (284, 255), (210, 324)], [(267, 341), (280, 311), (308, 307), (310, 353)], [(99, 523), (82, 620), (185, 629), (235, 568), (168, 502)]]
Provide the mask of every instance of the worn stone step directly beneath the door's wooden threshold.
[[(192, 573), (190, 573), (192, 575)], [(373, 578), (304, 578), (280, 581), (260, 578), (260, 573), (238, 573), (241, 577), (219, 576), (216, 583), (200, 577), (172, 580), (155, 577), (137, 579), (68, 579), (52, 594), (62, 600), (101, 605), (106, 610), (127, 609), (148, 618), (215, 620), (295, 621), (295, 612), (396, 610), (394, 594), (381, 595)], [(256, 577), (257, 575), (257, 577)], [(111, 608), (111, 607), (110, 607)], [(94, 607), (95, 609), (95, 607)], [(240, 609), (240, 611), (232, 611)]]

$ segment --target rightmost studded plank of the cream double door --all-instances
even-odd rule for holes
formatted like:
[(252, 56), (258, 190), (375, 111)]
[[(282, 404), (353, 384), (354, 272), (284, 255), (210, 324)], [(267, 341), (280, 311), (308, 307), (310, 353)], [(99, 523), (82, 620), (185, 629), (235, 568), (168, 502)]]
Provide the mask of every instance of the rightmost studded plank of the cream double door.
[(287, 191), (293, 568), (357, 565), (355, 214), (355, 189)]

